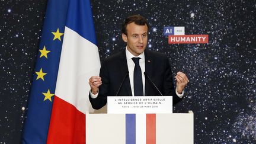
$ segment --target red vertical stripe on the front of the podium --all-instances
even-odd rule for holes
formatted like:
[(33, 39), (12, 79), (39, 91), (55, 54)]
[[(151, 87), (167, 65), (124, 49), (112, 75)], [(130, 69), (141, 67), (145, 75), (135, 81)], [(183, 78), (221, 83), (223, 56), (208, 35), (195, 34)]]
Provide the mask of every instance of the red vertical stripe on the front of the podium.
[(146, 114), (146, 144), (156, 144), (156, 114)]

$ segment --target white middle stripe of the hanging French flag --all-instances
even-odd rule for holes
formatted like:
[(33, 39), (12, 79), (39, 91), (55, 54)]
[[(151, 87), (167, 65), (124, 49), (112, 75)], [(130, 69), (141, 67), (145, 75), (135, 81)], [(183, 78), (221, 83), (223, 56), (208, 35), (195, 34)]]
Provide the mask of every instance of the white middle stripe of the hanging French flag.
[(88, 79), (99, 71), (98, 47), (65, 27), (55, 95), (82, 113), (94, 111), (88, 98)]

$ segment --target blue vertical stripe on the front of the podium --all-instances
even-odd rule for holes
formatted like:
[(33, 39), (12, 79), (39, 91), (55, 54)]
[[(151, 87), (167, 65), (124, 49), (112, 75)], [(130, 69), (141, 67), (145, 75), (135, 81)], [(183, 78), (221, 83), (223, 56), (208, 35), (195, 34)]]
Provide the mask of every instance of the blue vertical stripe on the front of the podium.
[(126, 144), (136, 143), (136, 115), (126, 114)]

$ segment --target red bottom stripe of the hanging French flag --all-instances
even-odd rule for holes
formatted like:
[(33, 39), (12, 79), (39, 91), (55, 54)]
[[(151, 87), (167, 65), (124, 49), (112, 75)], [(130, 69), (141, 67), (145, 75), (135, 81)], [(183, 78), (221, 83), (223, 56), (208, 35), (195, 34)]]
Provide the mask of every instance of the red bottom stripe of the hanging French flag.
[(47, 144), (85, 143), (85, 114), (55, 95)]

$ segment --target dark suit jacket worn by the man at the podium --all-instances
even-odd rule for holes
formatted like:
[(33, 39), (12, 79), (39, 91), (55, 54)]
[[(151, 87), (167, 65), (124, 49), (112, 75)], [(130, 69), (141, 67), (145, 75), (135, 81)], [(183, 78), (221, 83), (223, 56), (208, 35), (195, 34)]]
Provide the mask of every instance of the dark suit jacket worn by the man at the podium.
[[(158, 52), (145, 50), (145, 71), (163, 95), (173, 96), (173, 104), (176, 104), (181, 100), (181, 98), (175, 94), (171, 66), (169, 65), (168, 57)], [(117, 94), (121, 81), (123, 81), (127, 72), (128, 66), (125, 50), (117, 53), (116, 55), (110, 56), (103, 61), (100, 69), (100, 76), (103, 84), (99, 87), (98, 97), (91, 98), (89, 95), (89, 101), (92, 104), (92, 108), (100, 109), (107, 103), (107, 96)], [(124, 79), (118, 95), (132, 95), (129, 75)], [(161, 95), (146, 77), (145, 95)]]

